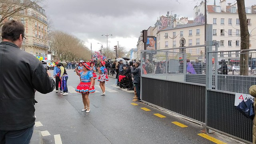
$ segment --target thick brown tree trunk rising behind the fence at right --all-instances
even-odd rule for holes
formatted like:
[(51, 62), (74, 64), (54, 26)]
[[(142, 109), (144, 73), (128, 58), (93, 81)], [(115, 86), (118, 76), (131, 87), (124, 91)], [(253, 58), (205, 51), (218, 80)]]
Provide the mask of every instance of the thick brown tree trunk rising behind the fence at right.
[(240, 37), (241, 37), (241, 46), (240, 46), (240, 75), (248, 76), (248, 50), (249, 50), (249, 30), (246, 18), (245, 4), (244, 0), (236, 0), (238, 7), (238, 17), (240, 21)]

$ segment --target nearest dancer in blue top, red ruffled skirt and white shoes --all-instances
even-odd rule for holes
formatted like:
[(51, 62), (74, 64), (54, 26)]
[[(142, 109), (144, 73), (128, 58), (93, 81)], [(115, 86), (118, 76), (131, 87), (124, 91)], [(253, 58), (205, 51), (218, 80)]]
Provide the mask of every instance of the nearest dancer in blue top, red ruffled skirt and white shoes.
[[(83, 62), (83, 71), (78, 72), (78, 69), (76, 69), (76, 74), (81, 77), (81, 82), (76, 87), (76, 92), (79, 92), (82, 94), (82, 99), (84, 103), (84, 109), (82, 111), (90, 112), (90, 100), (89, 100), (89, 93), (95, 92), (93, 83), (93, 75), (90, 71), (90, 63), (89, 62)], [(89, 109), (89, 110), (88, 110)]]

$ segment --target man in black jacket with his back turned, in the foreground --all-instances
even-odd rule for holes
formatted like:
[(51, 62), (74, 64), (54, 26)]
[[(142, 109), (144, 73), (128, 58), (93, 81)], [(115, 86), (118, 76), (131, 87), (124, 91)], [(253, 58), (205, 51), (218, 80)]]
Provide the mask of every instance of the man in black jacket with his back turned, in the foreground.
[(20, 50), (24, 26), (11, 20), (0, 43), (0, 144), (28, 144), (35, 124), (35, 91), (47, 94), (55, 82), (43, 64)]

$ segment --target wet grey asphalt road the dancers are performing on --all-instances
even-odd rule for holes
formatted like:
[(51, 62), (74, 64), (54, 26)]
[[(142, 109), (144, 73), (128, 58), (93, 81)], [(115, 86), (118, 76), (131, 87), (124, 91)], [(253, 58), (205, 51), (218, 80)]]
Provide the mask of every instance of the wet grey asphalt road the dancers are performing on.
[[(79, 77), (73, 70), (67, 72), (68, 96), (62, 96), (55, 90), (49, 94), (36, 93), (36, 122), (42, 126), (35, 126), (34, 130), (49, 132), (50, 135), (43, 136), (44, 144), (60, 142), (55, 138), (58, 134), (62, 144), (214, 144), (198, 135), (202, 133), (202, 126), (142, 102), (132, 102), (134, 93), (114, 86), (114, 78), (106, 82), (108, 90), (105, 96), (100, 95), (101, 90), (96, 86), (98, 92), (89, 95), (90, 112), (82, 112), (82, 96), (74, 92), (80, 82)], [(95, 85), (98, 84), (96, 82)], [(166, 118), (155, 116), (156, 113)], [(182, 128), (172, 122), (188, 127)], [(237, 143), (218, 134), (209, 136), (226, 143)]]

